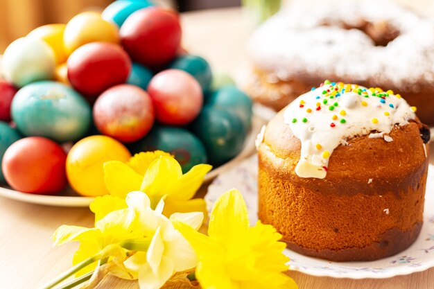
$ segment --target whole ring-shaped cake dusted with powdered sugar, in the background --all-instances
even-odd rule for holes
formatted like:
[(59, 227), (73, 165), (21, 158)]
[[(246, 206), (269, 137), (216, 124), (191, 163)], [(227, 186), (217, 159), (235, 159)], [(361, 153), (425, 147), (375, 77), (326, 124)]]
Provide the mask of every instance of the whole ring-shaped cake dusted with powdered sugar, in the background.
[(248, 93), (279, 111), (324, 78), (389, 87), (434, 124), (434, 24), (396, 3), (293, 4), (252, 36)]

